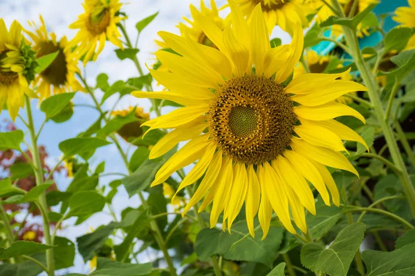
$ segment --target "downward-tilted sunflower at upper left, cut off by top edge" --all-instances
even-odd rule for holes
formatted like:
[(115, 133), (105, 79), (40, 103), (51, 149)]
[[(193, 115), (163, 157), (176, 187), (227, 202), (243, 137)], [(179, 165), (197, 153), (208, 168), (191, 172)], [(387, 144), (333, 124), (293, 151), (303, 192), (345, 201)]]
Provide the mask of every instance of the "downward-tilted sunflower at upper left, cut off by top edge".
[[(107, 39), (118, 48), (124, 48), (119, 39), (121, 34), (116, 25), (125, 18), (117, 15), (121, 6), (122, 3), (119, 3), (119, 0), (85, 0), (84, 14), (81, 14), (77, 21), (69, 26), (71, 29), (80, 30), (68, 43), (69, 48), (77, 46), (75, 54), (78, 58), (85, 55), (84, 66), (91, 57), (93, 57), (93, 61), (96, 61), (104, 49)], [(98, 42), (98, 50), (95, 52)]]

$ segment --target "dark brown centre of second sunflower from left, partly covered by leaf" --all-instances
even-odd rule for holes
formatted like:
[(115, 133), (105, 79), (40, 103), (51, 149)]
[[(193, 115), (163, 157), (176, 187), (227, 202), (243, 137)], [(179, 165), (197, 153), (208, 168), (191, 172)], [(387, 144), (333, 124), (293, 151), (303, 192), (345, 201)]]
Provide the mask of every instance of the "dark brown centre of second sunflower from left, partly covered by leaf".
[(37, 45), (37, 48), (39, 49), (37, 51), (38, 58), (59, 51), (55, 60), (40, 75), (53, 86), (63, 86), (66, 83), (66, 74), (68, 73), (64, 49), (52, 41), (43, 41)]

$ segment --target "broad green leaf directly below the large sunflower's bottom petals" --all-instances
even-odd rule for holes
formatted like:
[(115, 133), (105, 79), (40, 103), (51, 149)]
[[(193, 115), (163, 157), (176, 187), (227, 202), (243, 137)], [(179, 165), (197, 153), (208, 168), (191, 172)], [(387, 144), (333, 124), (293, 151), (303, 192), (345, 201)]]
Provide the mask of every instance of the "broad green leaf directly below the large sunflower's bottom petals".
[[(245, 237), (248, 234), (245, 220), (233, 224), (231, 233), (232, 235), (216, 228), (201, 230), (194, 245), (199, 259), (208, 262), (212, 255), (219, 254), (225, 259), (260, 262), (273, 267), (275, 252), (282, 242), (283, 228), (271, 226), (264, 242), (261, 242), (261, 231), (255, 233), (255, 238), (250, 235)], [(245, 238), (242, 239), (243, 237)], [(234, 244), (240, 239), (241, 242)], [(231, 249), (232, 244), (234, 246)]]

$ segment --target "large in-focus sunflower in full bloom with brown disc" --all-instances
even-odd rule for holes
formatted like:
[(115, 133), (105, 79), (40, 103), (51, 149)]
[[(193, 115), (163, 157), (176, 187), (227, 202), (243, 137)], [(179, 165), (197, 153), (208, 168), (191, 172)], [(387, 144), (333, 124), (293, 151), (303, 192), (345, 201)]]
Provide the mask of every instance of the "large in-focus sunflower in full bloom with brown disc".
[[(263, 239), (273, 210), (291, 233), (295, 224), (306, 232), (305, 210), (315, 214), (307, 181), (327, 205), (340, 197), (326, 166), (358, 172), (344, 157), (342, 139), (365, 141), (335, 117), (359, 112), (334, 100), (347, 92), (367, 90), (340, 74), (305, 74), (286, 82), (302, 55), (302, 27), (295, 25), (290, 45), (270, 48), (266, 20), (258, 5), (250, 20), (229, 0), (232, 26), (222, 31), (212, 20), (199, 17), (201, 28), (216, 50), (169, 32), (158, 34), (180, 55), (160, 50), (156, 56), (169, 72), (150, 70), (169, 91), (132, 94), (168, 99), (183, 105), (147, 121), (149, 130), (173, 128), (151, 149), (151, 159), (164, 155), (180, 141), (188, 141), (158, 170), (151, 186), (176, 170), (196, 162), (177, 193), (201, 179), (183, 215), (203, 197), (199, 211), (210, 203), (210, 226), (223, 213), (222, 227), (230, 231), (245, 203), (249, 232), (259, 216)], [(283, 173), (284, 172), (284, 173)], [(203, 177), (204, 175), (204, 177)]]

